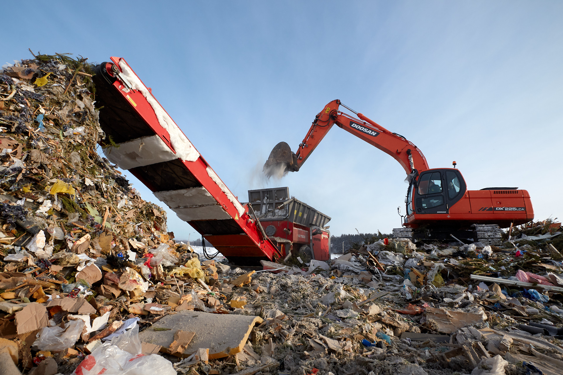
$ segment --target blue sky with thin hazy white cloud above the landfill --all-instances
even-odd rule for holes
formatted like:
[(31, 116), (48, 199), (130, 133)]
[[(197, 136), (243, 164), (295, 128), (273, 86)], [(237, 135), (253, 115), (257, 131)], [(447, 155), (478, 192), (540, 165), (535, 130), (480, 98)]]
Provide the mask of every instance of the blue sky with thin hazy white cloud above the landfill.
[[(400, 225), (403, 169), (340, 128), (300, 172), (260, 176), (275, 144), (295, 150), (340, 99), (413, 141), (431, 168), (456, 160), (469, 189), (518, 186), (536, 219), (562, 216), (561, 2), (77, 4), (30, 1), (3, 17), (0, 63), (28, 48), (124, 57), (242, 202), (249, 189), (289, 186), (332, 217), (333, 234)], [(196, 236), (172, 212), (169, 227)]]

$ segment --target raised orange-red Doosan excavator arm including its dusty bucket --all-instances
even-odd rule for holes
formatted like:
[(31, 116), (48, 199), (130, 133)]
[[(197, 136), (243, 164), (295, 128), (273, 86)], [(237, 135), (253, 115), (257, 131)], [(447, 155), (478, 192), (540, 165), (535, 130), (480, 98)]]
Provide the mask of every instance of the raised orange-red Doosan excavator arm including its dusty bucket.
[[(341, 105), (354, 112), (358, 118), (339, 111), (338, 108)], [(274, 147), (264, 164), (266, 174), (274, 175), (280, 169), (297, 172), (334, 124), (391, 155), (401, 164), (407, 175), (429, 169), (426, 158), (412, 142), (397, 133), (388, 131), (363, 114), (343, 105), (337, 99), (325, 105), (324, 109), (315, 116), (307, 135), (295, 153), (285, 142), (280, 142)]]

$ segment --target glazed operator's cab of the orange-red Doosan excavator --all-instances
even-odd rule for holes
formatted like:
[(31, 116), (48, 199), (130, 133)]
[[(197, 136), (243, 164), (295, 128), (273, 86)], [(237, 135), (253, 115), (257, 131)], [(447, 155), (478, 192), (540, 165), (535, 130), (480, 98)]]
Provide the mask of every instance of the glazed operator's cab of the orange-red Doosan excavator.
[(449, 213), (463, 197), (467, 185), (461, 172), (454, 168), (427, 169), (409, 184), (406, 193), (406, 220), (413, 213), (427, 215)]

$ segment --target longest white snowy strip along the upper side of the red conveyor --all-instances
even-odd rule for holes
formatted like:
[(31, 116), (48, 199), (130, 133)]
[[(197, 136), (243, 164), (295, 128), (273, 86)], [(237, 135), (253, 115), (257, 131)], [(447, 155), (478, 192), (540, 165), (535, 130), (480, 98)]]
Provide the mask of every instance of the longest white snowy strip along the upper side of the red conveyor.
[(191, 144), (190, 140), (187, 139), (184, 133), (182, 133), (180, 128), (176, 125), (168, 113), (166, 113), (158, 101), (154, 99), (154, 96), (149, 92), (148, 88), (145, 87), (123, 59), (119, 60), (119, 67), (121, 68), (124, 77), (131, 84), (131, 88), (133, 88), (133, 90), (140, 91), (149, 102), (150, 106), (153, 107), (154, 113), (157, 115), (158, 123), (166, 129), (170, 135), (170, 142), (176, 151), (176, 157), (187, 162), (195, 162), (195, 160), (199, 158), (199, 153)]

